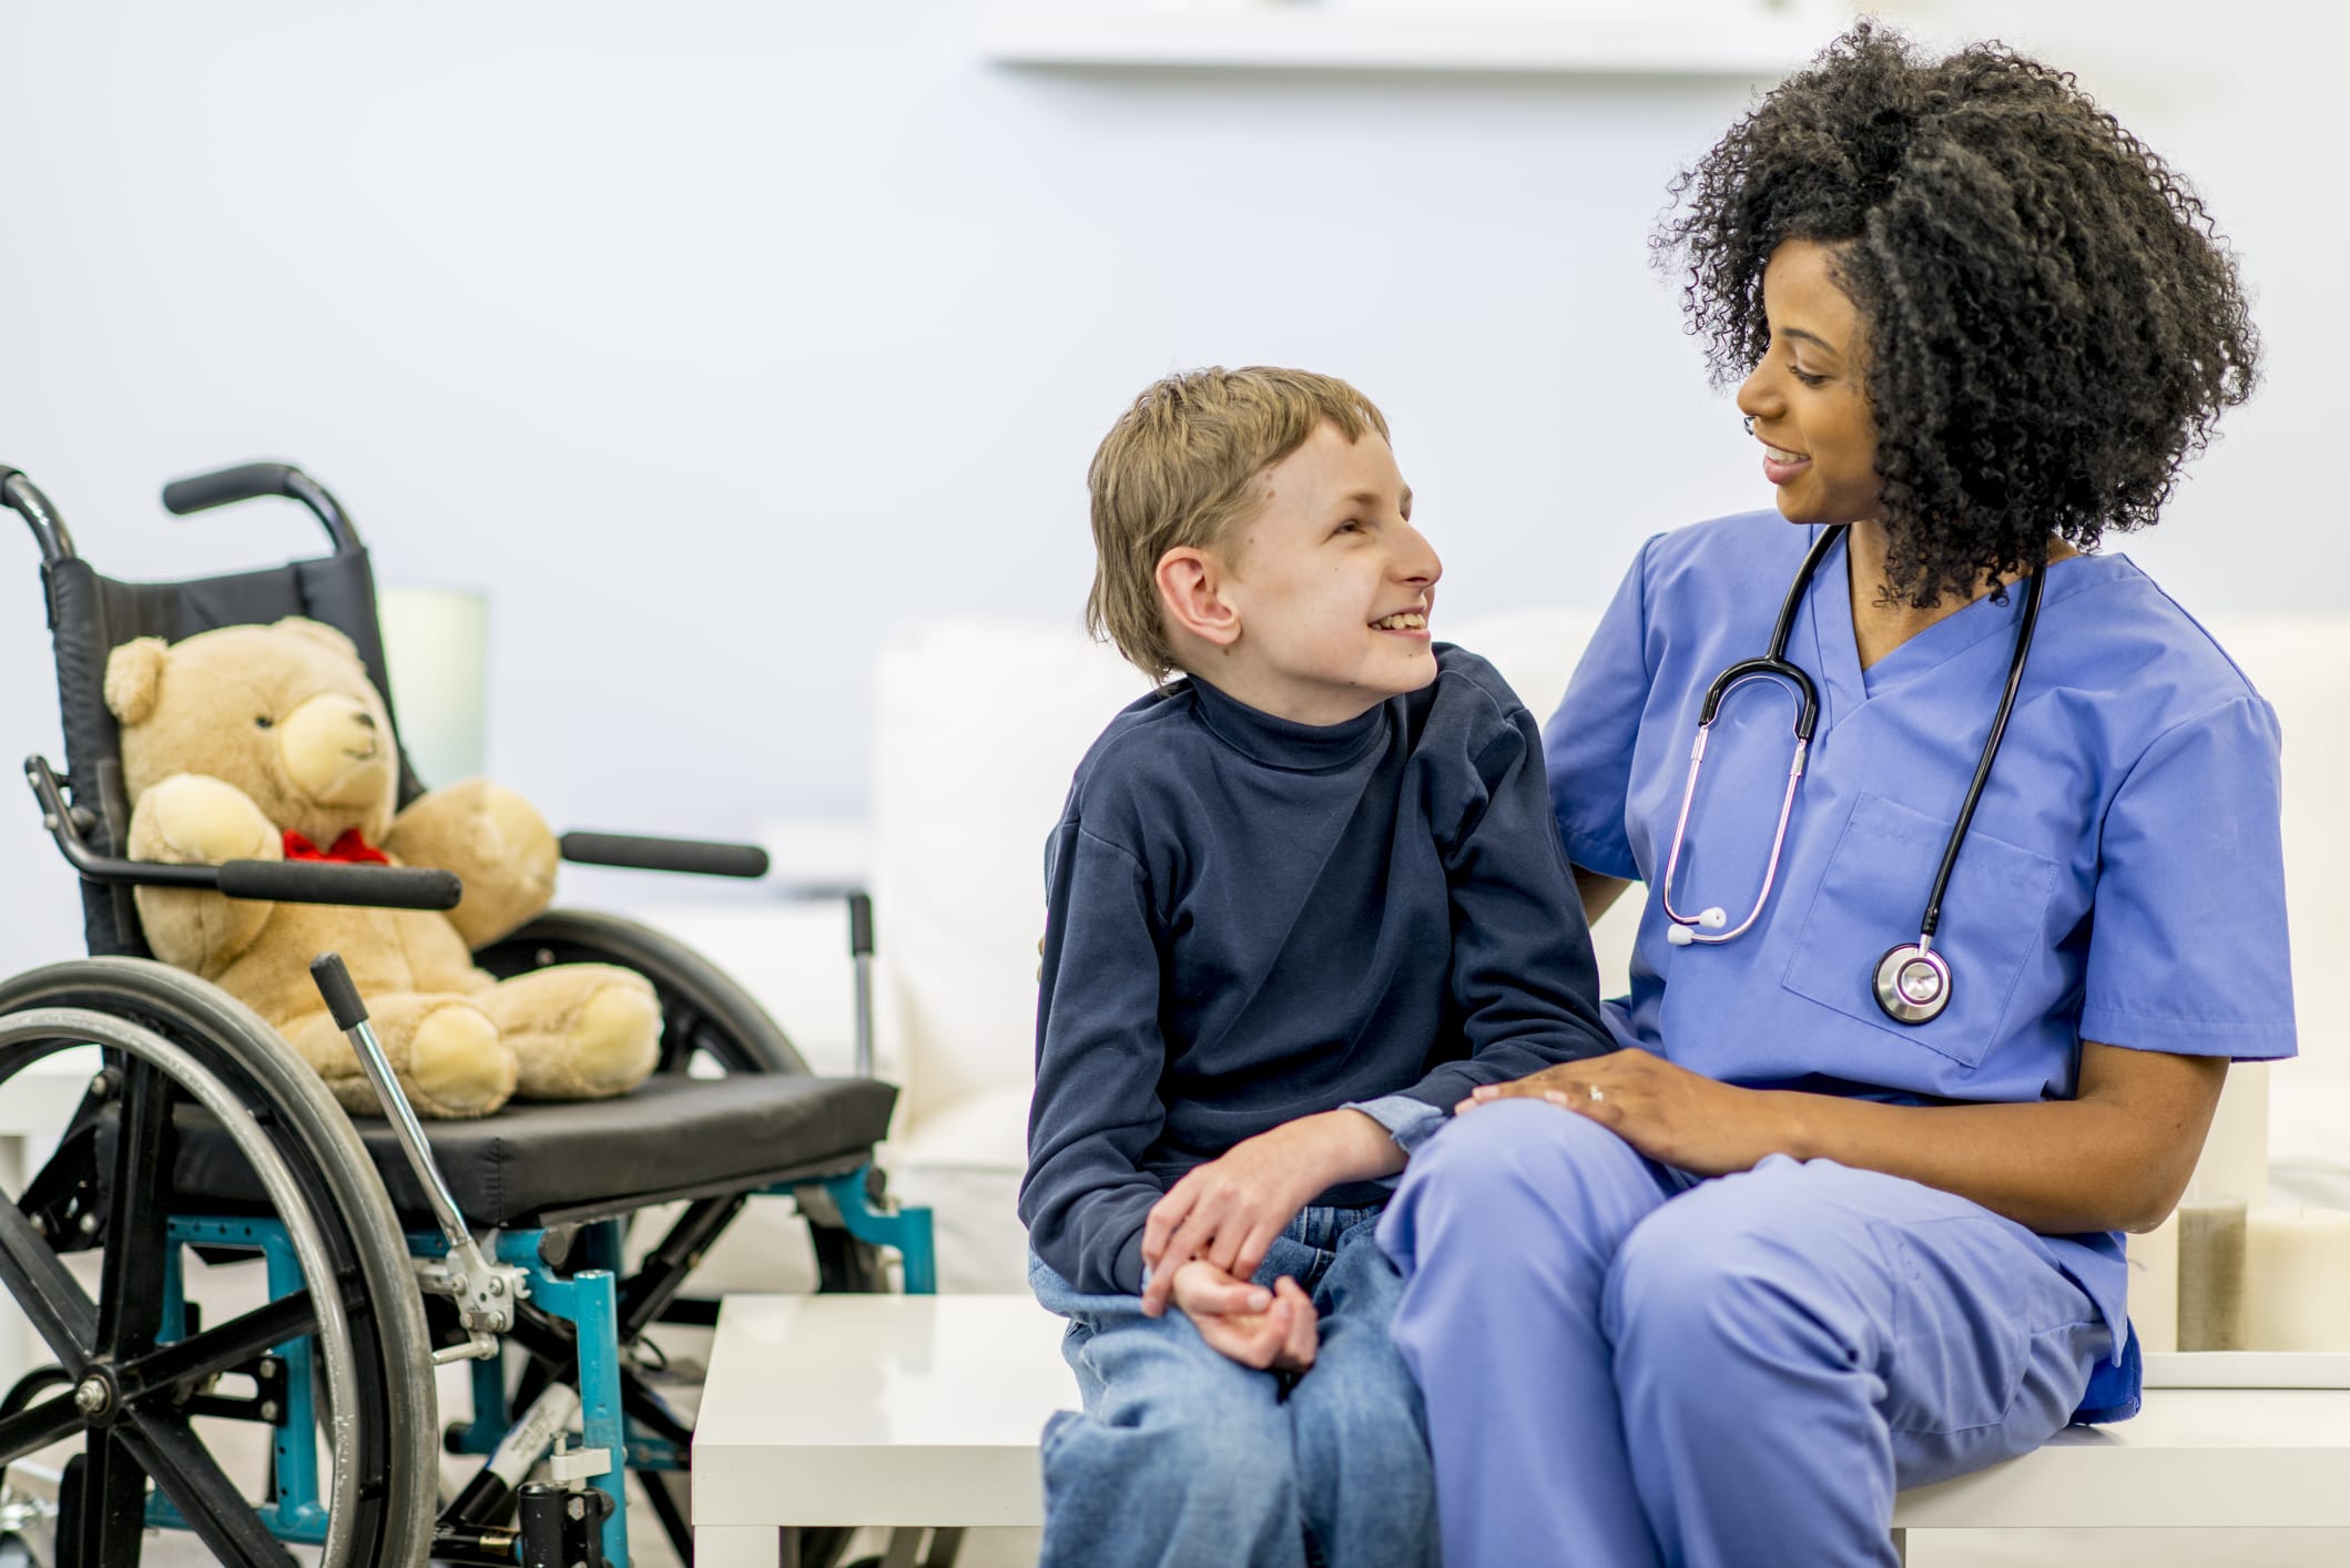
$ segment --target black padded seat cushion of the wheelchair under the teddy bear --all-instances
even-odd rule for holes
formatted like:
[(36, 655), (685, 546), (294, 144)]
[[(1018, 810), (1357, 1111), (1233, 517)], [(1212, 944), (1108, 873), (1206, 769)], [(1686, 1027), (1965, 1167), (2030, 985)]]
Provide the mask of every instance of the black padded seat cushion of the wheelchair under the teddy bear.
[[(895, 1100), (893, 1086), (872, 1079), (656, 1074), (618, 1100), (515, 1100), (496, 1117), (435, 1121), (425, 1138), (470, 1225), (564, 1225), (853, 1171), (881, 1140)], [(402, 1225), (435, 1229), (390, 1124), (355, 1117), (355, 1126)], [(202, 1107), (179, 1105), (174, 1128), (179, 1208), (240, 1211), (263, 1201), (251, 1166)], [(108, 1117), (101, 1128), (108, 1145), (110, 1133)]]

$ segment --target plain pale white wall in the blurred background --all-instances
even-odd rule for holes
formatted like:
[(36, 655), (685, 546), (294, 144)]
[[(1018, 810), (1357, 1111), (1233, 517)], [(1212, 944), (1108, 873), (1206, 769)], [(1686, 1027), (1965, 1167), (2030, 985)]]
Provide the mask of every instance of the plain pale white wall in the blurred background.
[[(2080, 71), (2242, 247), (2268, 388), (2136, 550), (2195, 607), (2334, 604), (2343, 219), (2303, 169), (2343, 38), (2298, 9), (1894, 7)], [(291, 505), (153, 501), (301, 461), (383, 581), (491, 588), (491, 769), (559, 825), (855, 811), (884, 628), (1074, 618), (1086, 456), (1170, 367), (1356, 378), (1462, 614), (1765, 503), (1643, 247), (1746, 82), (1006, 71), (968, 0), (26, 5), (0, 56), (0, 458), (125, 576), (308, 550)], [(73, 931), (16, 811), (0, 973)]]

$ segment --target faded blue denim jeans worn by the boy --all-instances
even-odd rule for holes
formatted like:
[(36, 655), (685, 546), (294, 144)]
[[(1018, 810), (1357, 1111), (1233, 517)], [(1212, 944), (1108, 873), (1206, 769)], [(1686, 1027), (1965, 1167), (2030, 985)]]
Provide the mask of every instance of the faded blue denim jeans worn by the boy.
[(1260, 1373), (1137, 1295), (1083, 1295), (1039, 1260), (1069, 1319), (1083, 1415), (1043, 1429), (1039, 1568), (1434, 1568), (1436, 1483), (1419, 1389), (1386, 1338), (1403, 1288), (1377, 1208), (1307, 1208), (1257, 1269), (1321, 1314), (1302, 1378)]

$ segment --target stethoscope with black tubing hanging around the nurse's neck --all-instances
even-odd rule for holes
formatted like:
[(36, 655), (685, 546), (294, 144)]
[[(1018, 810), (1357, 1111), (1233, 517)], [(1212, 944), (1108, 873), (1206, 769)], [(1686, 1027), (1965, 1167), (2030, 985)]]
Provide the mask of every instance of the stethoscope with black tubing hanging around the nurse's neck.
[[(1659, 884), (1664, 917), (1671, 922), (1664, 940), (1673, 947), (1687, 947), (1692, 943), (1727, 943), (1746, 936), (1746, 931), (1762, 919), (1762, 905), (1770, 903), (1772, 882), (1779, 877), (1779, 851), (1786, 846), (1786, 818), (1795, 811), (1795, 785), (1802, 783), (1802, 764), (1812, 752), (1812, 731), (1819, 724), (1819, 691), (1812, 686), (1812, 677), (1788, 661), (1786, 637), (1795, 625), (1795, 609), (1802, 607), (1802, 597), (1812, 588), (1812, 574), (1842, 536), (1845, 524), (1821, 531), (1821, 536), (1812, 543), (1812, 550), (1802, 557), (1802, 567), (1795, 569), (1795, 583), (1786, 590), (1786, 599), (1779, 604), (1779, 621), (1770, 632), (1770, 651), (1762, 654), (1762, 658), (1741, 658), (1716, 675), (1713, 684), (1706, 686), (1706, 703), (1697, 712), (1697, 745), (1690, 748), (1690, 783), (1680, 792), (1680, 820), (1673, 825), (1673, 849), (1666, 851), (1664, 882)], [(2016, 625), (2016, 651), (2007, 661), (2007, 689), (2000, 693), (2000, 710), (1990, 717), (1990, 733), (1983, 738), (1983, 755), (1974, 764), (1974, 783), (1967, 785), (1967, 799), (1958, 809), (1958, 820), (1950, 825), (1950, 842), (1941, 851), (1941, 870), (1934, 872), (1934, 891), (1927, 893), (1925, 917), (1918, 922), (1918, 940), (1887, 947), (1885, 957), (1878, 959), (1875, 976), (1871, 978), (1878, 1006), (1885, 1009), (1885, 1016), (1894, 1023), (1927, 1023), (1939, 1018), (1941, 1011), (1950, 1006), (1950, 959), (1934, 950), (1934, 929), (1941, 926), (1941, 898), (1950, 889), (1950, 867), (1958, 865), (1958, 846), (1967, 842), (1967, 823), (1974, 820), (1974, 806), (1983, 799), (1983, 783), (1990, 778), (1990, 759), (2000, 755), (2000, 736), (2007, 733), (2007, 715), (2016, 708), (2016, 689), (2023, 684), (2023, 656), (2030, 654), (2033, 646), (2033, 625), (2040, 621), (2040, 592), (2044, 585), (2047, 571), (2033, 571), (2030, 588), (2023, 595), (2023, 621)], [(1683, 914), (1673, 907), (1673, 870), (1680, 865), (1680, 839), (1690, 830), (1690, 802), (1697, 797), (1697, 771), (1706, 759), (1706, 731), (1713, 729), (1723, 698), (1755, 679), (1779, 679), (1795, 691), (1795, 762), (1786, 771), (1786, 797), (1779, 802), (1779, 830), (1772, 835), (1770, 865), (1762, 870), (1762, 891), (1755, 896), (1755, 907), (1737, 924), (1737, 929), (1723, 931), (1730, 917), (1720, 907), (1699, 910), (1697, 914)]]

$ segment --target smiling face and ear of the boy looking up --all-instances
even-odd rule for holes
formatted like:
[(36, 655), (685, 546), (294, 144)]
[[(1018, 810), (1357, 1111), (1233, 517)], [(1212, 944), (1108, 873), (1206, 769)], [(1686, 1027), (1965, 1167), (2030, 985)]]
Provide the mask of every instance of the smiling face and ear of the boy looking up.
[(1429, 609), (1443, 562), (1410, 522), (1386, 442), (1323, 423), (1262, 487), (1231, 543), (1196, 552), (1196, 574), (1168, 585), (1170, 618), (1208, 644), (1191, 675), (1297, 724), (1344, 724), (1436, 679)]

